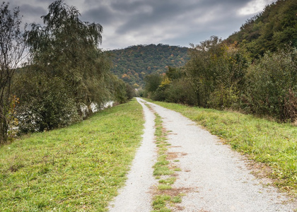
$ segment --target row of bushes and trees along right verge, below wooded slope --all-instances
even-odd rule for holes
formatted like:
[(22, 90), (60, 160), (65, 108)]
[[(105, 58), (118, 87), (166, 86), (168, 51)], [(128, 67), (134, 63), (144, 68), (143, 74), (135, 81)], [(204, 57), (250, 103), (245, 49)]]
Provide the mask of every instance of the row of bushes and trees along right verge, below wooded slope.
[(252, 62), (240, 49), (211, 37), (191, 49), (185, 67), (147, 76), (144, 97), (295, 122), (296, 61), (296, 47), (267, 52)]

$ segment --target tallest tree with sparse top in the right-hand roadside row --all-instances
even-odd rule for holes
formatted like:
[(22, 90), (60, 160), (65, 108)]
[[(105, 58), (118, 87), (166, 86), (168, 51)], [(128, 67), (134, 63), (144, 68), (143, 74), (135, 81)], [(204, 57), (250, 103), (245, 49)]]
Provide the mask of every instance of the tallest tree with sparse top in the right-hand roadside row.
[(197, 94), (198, 105), (231, 107), (238, 100), (247, 66), (248, 58), (219, 37), (193, 45), (185, 73)]

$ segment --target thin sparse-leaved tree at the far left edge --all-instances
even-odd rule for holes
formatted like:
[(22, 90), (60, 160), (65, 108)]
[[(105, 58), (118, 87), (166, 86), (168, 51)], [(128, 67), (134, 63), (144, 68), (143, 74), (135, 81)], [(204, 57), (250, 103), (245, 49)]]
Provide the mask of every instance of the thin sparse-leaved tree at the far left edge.
[(8, 6), (3, 2), (0, 7), (0, 144), (6, 143), (8, 138), (8, 126), (14, 110), (11, 79), (21, 64), (25, 49), (19, 8), (11, 12)]

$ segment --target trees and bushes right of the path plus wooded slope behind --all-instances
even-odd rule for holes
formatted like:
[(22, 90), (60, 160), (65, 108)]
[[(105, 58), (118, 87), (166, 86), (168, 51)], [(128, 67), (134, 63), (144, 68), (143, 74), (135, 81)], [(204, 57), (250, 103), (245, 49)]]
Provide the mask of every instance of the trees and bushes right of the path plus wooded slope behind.
[(144, 96), (296, 122), (296, 10), (296, 1), (276, 1), (227, 40), (192, 45), (185, 66), (146, 76)]

